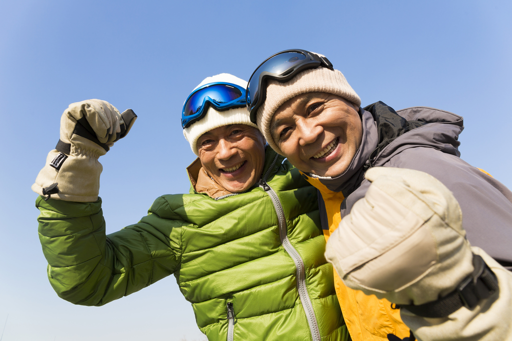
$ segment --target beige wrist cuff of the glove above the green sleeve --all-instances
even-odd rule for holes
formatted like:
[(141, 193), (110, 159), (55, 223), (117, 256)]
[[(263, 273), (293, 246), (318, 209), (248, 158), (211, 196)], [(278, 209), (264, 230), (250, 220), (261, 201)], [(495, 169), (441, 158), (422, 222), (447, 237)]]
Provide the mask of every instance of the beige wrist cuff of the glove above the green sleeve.
[[(97, 157), (87, 154), (66, 155), (57, 150), (48, 153), (32, 190), (52, 199), (78, 202), (98, 200), (99, 178), (103, 167)], [(53, 184), (56, 188), (49, 190)]]

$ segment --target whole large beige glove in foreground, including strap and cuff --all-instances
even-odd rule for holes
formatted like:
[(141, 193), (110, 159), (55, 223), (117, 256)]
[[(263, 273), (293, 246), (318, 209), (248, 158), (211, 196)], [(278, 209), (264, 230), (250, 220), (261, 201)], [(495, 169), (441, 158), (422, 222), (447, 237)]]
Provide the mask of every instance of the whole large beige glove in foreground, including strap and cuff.
[(401, 305), (418, 341), (512, 340), (512, 273), (470, 248), (453, 194), (419, 171), (376, 167), (365, 176), (365, 198), (326, 246), (345, 284)]

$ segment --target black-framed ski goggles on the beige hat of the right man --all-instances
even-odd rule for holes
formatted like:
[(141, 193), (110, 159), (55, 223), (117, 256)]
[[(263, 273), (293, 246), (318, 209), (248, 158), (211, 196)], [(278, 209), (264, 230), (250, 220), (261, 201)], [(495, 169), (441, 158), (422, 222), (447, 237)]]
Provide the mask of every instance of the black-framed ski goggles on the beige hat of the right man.
[(285, 50), (267, 58), (256, 68), (247, 83), (247, 110), (251, 122), (256, 123), (258, 108), (265, 102), (267, 78), (286, 82), (301, 71), (320, 66), (334, 70), (329, 59), (306, 50)]

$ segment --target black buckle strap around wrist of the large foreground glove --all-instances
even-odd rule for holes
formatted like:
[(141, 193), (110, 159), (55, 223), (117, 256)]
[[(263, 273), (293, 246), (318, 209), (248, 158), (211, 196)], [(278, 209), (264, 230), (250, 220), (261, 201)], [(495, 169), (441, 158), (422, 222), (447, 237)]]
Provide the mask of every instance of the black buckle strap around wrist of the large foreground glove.
[(466, 307), (472, 310), (480, 302), (498, 290), (498, 279), (482, 257), (473, 254), (472, 274), (467, 276), (459, 286), (445, 297), (421, 305), (401, 305), (415, 315), (423, 317), (445, 317)]

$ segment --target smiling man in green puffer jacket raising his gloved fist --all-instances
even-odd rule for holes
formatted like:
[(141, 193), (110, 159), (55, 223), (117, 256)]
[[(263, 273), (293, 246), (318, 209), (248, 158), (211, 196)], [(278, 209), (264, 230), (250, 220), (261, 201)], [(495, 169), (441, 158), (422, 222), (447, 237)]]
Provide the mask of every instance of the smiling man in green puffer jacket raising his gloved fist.
[(69, 106), (32, 187), (61, 298), (99, 306), (174, 274), (209, 340), (349, 339), (315, 189), (265, 148), (245, 109), (246, 84), (227, 74), (199, 84), (182, 115), (199, 156), (187, 168), (190, 194), (164, 195), (106, 236), (97, 159), (135, 117), (99, 100)]

